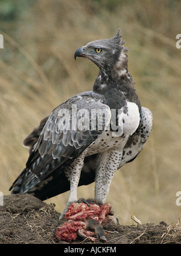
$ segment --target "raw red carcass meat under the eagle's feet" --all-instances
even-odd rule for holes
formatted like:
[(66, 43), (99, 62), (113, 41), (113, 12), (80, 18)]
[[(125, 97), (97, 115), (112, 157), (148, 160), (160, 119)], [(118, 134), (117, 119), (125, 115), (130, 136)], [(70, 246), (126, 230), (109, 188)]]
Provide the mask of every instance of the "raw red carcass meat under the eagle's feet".
[(115, 217), (110, 203), (101, 205), (92, 200), (78, 200), (68, 207), (66, 222), (57, 229), (56, 236), (69, 243), (77, 236), (90, 241), (95, 241), (96, 238), (107, 241), (101, 223), (111, 222), (113, 219)]

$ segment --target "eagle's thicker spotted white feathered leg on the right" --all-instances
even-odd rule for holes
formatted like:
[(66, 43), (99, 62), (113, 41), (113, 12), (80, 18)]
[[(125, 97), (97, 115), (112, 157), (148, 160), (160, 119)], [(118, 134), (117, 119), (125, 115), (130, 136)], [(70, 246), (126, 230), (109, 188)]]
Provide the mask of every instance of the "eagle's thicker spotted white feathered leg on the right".
[(111, 149), (100, 154), (95, 175), (95, 200), (105, 203), (110, 183), (121, 161), (122, 151)]

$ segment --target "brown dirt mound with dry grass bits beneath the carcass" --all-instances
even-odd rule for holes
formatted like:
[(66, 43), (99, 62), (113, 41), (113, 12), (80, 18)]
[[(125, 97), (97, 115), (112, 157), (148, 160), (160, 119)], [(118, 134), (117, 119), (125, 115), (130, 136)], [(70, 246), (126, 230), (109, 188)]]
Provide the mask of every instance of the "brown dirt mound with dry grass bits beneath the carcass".
[[(65, 243), (56, 238), (56, 229), (62, 224), (54, 205), (47, 205), (30, 195), (5, 195), (0, 206), (1, 244), (54, 244)], [(181, 243), (180, 225), (168, 226), (165, 222), (144, 225), (103, 226), (108, 244)], [(72, 244), (91, 244), (76, 240)], [(100, 243), (96, 241), (95, 243)], [(105, 244), (105, 243), (104, 243)], [(105, 244), (106, 245), (106, 244)]]

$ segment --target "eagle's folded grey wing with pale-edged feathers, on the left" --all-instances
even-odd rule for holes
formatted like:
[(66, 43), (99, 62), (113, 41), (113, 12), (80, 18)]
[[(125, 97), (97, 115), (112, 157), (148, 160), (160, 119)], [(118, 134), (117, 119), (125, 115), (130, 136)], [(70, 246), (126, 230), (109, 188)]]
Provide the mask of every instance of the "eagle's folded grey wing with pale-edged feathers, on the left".
[[(89, 117), (89, 130), (80, 130), (72, 125), (72, 104), (77, 106), (77, 113), (79, 110), (86, 110)], [(98, 125), (91, 129), (91, 110), (103, 110), (105, 113), (103, 116), (103, 129), (99, 130)], [(62, 115), (63, 111), (69, 111), (69, 120), (65, 120), (65, 116)], [(75, 113), (74, 115), (75, 116)], [(27, 162), (27, 168), (31, 169), (31, 172), (36, 174), (40, 179), (40, 172), (46, 168), (46, 173), (43, 171), (43, 178), (49, 175), (50, 172), (59, 166), (65, 164), (68, 159), (75, 159), (81, 154), (110, 123), (111, 112), (110, 108), (92, 99), (89, 96), (74, 96), (66, 102), (62, 103), (54, 111), (45, 122), (42, 128), (39, 139), (34, 145), (34, 149), (30, 154)], [(95, 116), (94, 116), (95, 118)], [(80, 121), (81, 116), (78, 117), (77, 122)], [(73, 128), (73, 129), (72, 129)], [(39, 164), (34, 164), (39, 159)], [(51, 162), (54, 162), (54, 168), (52, 168)], [(48, 167), (49, 166), (49, 167)], [(66, 165), (65, 165), (66, 166)]]

